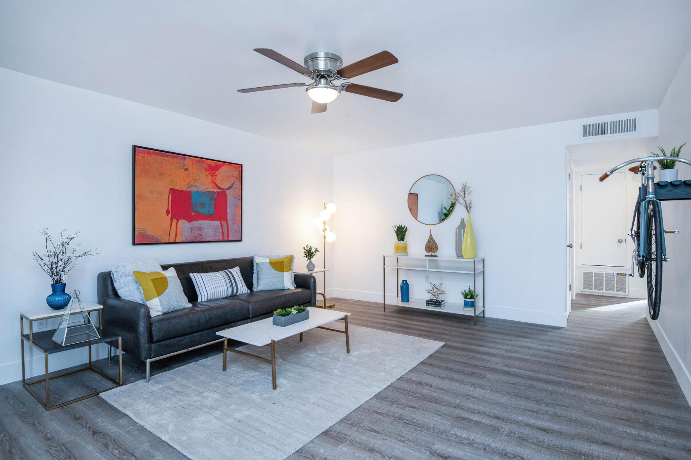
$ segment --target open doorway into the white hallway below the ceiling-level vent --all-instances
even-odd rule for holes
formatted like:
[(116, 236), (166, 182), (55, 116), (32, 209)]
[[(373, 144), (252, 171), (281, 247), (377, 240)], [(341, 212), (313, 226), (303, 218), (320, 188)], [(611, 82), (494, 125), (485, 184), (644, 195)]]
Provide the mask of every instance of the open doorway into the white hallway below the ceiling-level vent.
[[(632, 158), (646, 157), (653, 137), (576, 144), (566, 148), (567, 314), (576, 294), (645, 299), (645, 278), (631, 273), (630, 232), (640, 178), (627, 170), (598, 179)], [(569, 247), (573, 245), (573, 247)], [(569, 288), (571, 289), (569, 291)]]

